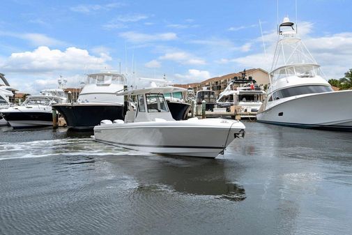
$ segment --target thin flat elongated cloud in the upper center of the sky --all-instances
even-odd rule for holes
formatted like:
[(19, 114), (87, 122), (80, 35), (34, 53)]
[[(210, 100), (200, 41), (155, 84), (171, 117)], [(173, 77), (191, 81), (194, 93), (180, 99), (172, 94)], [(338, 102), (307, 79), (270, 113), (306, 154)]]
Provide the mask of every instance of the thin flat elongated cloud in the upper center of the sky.
[(164, 40), (175, 40), (177, 38), (176, 33), (137, 33), (135, 31), (127, 31), (120, 33), (121, 38), (130, 40), (133, 43), (146, 43), (151, 41), (164, 41)]

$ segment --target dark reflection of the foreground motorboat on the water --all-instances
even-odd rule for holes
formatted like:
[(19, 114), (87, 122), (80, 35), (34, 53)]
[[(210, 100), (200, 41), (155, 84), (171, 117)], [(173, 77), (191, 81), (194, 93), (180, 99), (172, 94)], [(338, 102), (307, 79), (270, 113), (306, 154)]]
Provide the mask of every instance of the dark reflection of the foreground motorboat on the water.
[(185, 195), (207, 195), (242, 201), (245, 189), (227, 179), (222, 160), (165, 156), (109, 159), (139, 182), (137, 192), (169, 189)]

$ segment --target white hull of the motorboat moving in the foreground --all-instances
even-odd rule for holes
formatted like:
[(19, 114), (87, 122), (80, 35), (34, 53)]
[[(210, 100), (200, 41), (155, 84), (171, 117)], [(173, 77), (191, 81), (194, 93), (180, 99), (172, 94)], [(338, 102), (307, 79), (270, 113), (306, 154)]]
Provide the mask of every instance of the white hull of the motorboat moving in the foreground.
[(224, 119), (114, 123), (95, 126), (94, 139), (137, 151), (215, 158), (244, 129)]

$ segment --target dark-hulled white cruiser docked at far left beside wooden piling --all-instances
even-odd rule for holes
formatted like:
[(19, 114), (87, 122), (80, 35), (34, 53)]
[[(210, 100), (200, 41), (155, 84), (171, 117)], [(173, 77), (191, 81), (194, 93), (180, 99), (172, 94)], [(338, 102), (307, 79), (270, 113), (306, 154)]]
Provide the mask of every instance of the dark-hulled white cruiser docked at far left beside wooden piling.
[(66, 99), (61, 88), (45, 89), (39, 95), (27, 96), (22, 105), (0, 109), (0, 113), (13, 128), (52, 126), (52, 105)]

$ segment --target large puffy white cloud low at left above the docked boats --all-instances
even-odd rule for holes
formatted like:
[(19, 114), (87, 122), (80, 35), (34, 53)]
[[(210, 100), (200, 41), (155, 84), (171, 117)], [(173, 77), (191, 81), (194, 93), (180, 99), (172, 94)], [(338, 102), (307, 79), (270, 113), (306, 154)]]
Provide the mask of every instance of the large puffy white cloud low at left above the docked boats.
[(107, 61), (112, 58), (105, 53), (91, 56), (87, 50), (68, 47), (64, 52), (50, 50), (49, 47), (38, 47), (33, 52), (11, 54), (5, 61), (1, 61), (3, 71), (15, 73), (45, 73), (64, 70), (104, 69), (109, 67)]

